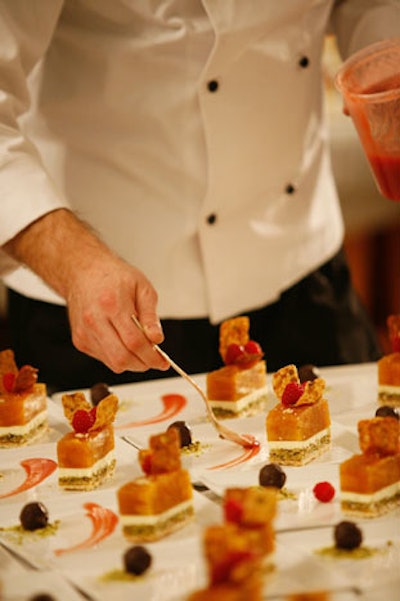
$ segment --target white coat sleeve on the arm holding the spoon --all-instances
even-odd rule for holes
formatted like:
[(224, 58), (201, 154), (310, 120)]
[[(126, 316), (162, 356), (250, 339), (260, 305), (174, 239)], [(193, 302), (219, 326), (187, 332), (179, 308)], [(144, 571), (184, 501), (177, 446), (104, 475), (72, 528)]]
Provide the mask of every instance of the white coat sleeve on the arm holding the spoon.
[[(18, 118), (29, 107), (27, 77), (50, 44), (62, 0), (0, 0), (0, 246), (67, 203)], [(13, 267), (0, 251), (0, 274)]]

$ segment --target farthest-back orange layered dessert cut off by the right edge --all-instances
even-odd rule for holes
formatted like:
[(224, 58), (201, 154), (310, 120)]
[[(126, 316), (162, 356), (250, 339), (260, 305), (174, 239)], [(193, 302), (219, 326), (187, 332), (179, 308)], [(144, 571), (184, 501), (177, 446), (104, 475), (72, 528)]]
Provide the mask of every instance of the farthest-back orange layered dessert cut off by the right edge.
[(400, 314), (387, 319), (392, 352), (378, 360), (378, 402), (400, 407)]

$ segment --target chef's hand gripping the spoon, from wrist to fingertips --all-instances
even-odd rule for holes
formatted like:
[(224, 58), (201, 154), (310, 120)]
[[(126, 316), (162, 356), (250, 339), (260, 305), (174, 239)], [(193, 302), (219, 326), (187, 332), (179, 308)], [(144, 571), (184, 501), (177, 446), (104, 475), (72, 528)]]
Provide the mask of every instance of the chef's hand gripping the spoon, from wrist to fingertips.
[[(118, 257), (98, 256), (89, 270), (78, 269), (66, 297), (76, 348), (116, 373), (168, 369), (149, 343), (164, 336), (156, 313), (157, 294), (138, 269)], [(135, 314), (146, 336), (134, 324)]]

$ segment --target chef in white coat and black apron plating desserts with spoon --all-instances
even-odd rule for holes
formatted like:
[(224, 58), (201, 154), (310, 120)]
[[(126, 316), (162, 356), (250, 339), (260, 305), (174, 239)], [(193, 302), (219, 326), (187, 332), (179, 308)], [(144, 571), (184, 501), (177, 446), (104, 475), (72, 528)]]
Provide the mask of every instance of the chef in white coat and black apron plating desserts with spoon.
[[(55, 389), (218, 365), (375, 360), (351, 285), (321, 52), (400, 35), (399, 0), (0, 0), (0, 271)], [(144, 335), (133, 323), (135, 314)]]

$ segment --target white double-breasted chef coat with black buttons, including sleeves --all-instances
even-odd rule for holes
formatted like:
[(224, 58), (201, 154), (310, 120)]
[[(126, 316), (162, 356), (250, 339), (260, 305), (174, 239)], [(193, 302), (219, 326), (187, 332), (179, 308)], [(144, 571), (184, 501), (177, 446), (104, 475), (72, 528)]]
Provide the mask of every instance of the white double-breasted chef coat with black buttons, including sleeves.
[(276, 300), (343, 239), (331, 16), (345, 54), (399, 34), (398, 0), (0, 0), (0, 244), (71, 207), (149, 277), (163, 318)]

